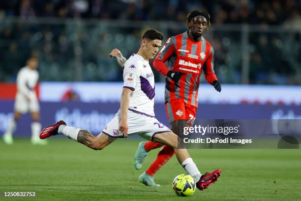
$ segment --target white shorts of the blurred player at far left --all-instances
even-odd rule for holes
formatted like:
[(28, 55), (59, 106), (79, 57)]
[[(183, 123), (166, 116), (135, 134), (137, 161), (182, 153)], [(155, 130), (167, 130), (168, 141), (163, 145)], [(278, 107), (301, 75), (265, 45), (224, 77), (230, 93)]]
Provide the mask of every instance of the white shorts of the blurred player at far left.
[(39, 112), (40, 106), (37, 99), (33, 99), (31, 101), (28, 101), (26, 97), (22, 94), (16, 95), (14, 110), (20, 113), (26, 113), (26, 112)]

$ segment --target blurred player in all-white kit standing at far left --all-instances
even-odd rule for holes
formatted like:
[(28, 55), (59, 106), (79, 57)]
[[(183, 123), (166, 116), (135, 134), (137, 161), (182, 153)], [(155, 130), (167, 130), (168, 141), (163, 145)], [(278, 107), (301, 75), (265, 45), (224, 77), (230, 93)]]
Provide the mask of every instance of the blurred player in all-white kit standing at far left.
[(22, 114), (26, 112), (31, 113), (31, 143), (44, 145), (47, 141), (39, 138), (41, 131), (41, 124), (39, 122), (39, 102), (36, 97), (34, 87), (37, 84), (39, 73), (36, 70), (38, 66), (38, 59), (31, 57), (27, 61), (26, 67), (22, 67), (17, 75), (17, 94), (14, 105), (14, 118), (8, 125), (7, 131), (3, 134), (3, 141), (6, 144), (13, 144), (12, 134), (15, 131), (17, 121)]

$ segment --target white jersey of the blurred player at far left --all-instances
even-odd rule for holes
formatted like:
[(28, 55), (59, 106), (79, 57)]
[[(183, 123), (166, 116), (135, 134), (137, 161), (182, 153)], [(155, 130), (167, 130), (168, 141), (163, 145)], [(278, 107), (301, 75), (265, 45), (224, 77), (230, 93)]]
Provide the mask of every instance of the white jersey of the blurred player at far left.
[(39, 79), (37, 70), (22, 67), (17, 74), (17, 95), (27, 95), (30, 99), (36, 98), (34, 87)]

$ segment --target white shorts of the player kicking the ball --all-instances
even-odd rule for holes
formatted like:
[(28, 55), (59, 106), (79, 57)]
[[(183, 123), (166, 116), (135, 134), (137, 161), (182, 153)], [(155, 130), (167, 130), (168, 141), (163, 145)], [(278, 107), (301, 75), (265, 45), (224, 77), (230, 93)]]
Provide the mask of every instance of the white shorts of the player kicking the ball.
[[(119, 131), (120, 125), (120, 110), (116, 113), (115, 117), (107, 124), (102, 130), (102, 133), (112, 137), (123, 137)], [(172, 132), (164, 124), (160, 123), (156, 118), (139, 114), (128, 110), (127, 113), (127, 126), (128, 135), (139, 134), (141, 137), (153, 140), (153, 136), (159, 133)]]

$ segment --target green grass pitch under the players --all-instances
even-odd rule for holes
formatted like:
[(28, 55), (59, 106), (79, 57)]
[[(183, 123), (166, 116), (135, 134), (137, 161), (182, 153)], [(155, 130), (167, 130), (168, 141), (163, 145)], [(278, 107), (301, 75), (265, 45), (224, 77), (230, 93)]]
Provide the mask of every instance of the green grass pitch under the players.
[[(219, 181), (189, 198), (177, 197), (174, 177), (185, 173), (174, 156), (155, 175), (160, 188), (138, 183), (138, 176), (158, 153), (152, 150), (141, 170), (133, 157), (138, 139), (118, 139), (94, 151), (67, 138), (53, 137), (46, 146), (29, 139), (0, 142), (0, 191), (34, 191), (43, 201), (290, 201), (301, 200), (300, 149), (190, 149), (201, 172), (222, 169)], [(3, 196), (3, 195), (2, 195)]]

